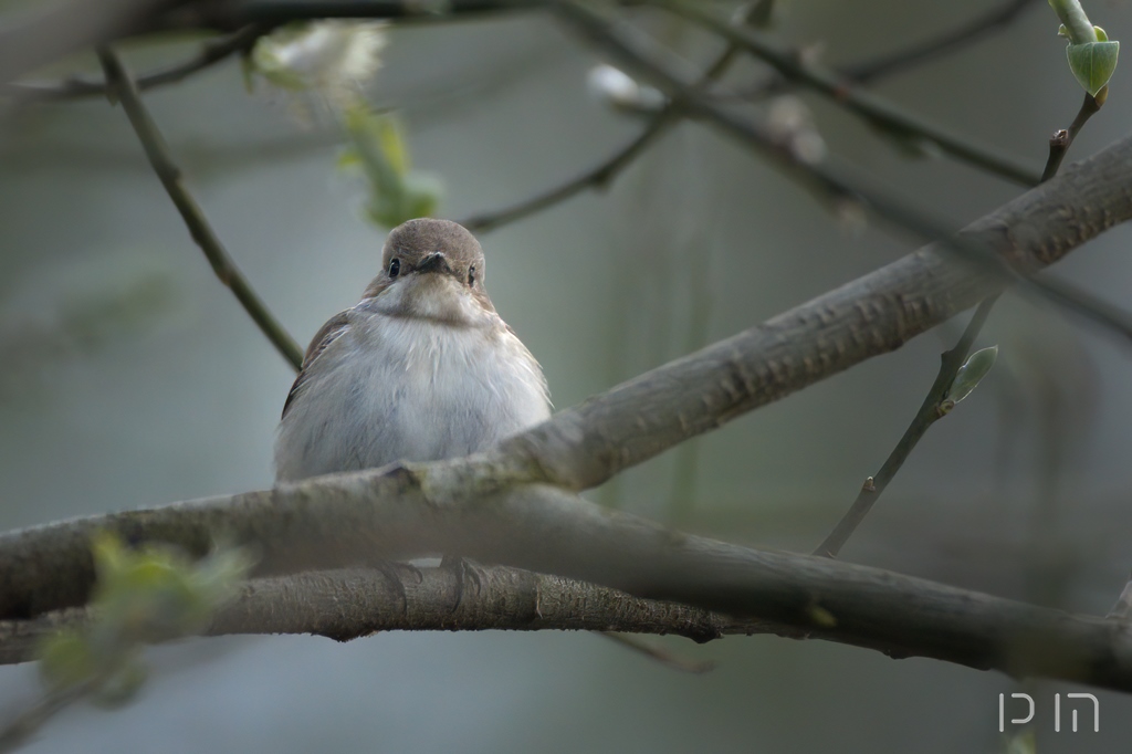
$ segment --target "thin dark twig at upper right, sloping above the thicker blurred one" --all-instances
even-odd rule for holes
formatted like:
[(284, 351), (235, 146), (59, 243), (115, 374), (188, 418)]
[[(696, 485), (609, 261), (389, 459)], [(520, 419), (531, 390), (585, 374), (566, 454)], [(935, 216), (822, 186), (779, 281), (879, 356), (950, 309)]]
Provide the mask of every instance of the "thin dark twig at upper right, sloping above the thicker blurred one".
[(883, 97), (857, 88), (852, 82), (834, 71), (804, 62), (791, 50), (771, 42), (756, 32), (731, 26), (697, 3), (684, 0), (649, 0), (649, 2), (714, 32), (769, 63), (786, 78), (827, 96), (869, 123), (901, 138), (925, 139), (957, 160), (1023, 186), (1035, 186), (1040, 181), (1040, 174), (1029, 165), (908, 113)]

